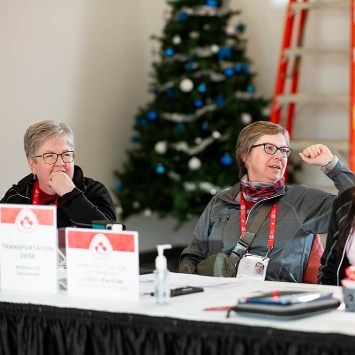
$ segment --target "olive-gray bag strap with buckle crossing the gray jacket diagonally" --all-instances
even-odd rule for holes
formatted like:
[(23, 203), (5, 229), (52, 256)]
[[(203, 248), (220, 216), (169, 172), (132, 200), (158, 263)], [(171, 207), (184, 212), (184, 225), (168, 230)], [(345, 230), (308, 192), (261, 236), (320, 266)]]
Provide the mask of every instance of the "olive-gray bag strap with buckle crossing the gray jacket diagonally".
[(259, 213), (256, 215), (252, 221), (250, 227), (247, 229), (246, 234), (243, 238), (239, 238), (237, 245), (234, 247), (230, 253), (230, 258), (233, 260), (233, 264), (236, 266), (242, 256), (249, 249), (252, 241), (255, 238), (256, 233), (261, 227), (262, 222), (265, 220), (266, 216), (269, 214), (272, 206), (275, 203), (275, 199), (265, 201), (261, 206)]

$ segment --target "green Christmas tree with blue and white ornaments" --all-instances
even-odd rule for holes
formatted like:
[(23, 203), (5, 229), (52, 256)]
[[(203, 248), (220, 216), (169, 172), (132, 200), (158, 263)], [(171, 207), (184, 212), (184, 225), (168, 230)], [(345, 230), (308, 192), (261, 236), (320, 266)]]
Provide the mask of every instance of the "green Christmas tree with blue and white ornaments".
[(153, 63), (154, 99), (135, 118), (134, 146), (115, 172), (122, 218), (168, 214), (182, 223), (238, 182), (240, 131), (266, 119), (246, 57), (245, 25), (225, 0), (170, 0)]

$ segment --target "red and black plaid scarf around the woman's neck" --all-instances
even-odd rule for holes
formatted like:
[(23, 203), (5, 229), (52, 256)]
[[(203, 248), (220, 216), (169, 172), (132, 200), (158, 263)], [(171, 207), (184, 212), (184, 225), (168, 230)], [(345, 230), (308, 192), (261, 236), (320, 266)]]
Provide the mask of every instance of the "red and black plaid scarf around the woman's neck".
[(246, 174), (241, 179), (243, 197), (249, 202), (258, 202), (276, 194), (284, 186), (284, 178), (273, 182), (251, 182)]

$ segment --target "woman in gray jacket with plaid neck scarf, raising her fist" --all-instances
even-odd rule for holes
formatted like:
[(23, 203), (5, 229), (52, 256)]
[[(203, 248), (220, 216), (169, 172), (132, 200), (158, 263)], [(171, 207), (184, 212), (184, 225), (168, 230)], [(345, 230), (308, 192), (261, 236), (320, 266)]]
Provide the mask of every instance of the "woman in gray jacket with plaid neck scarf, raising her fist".
[[(211, 199), (182, 251), (180, 272), (252, 278), (251, 265), (261, 261), (265, 280), (317, 282), (314, 273), (312, 280), (305, 278), (307, 263), (314, 234), (328, 229), (336, 195), (287, 186), (290, 154), (284, 127), (259, 121), (242, 130), (236, 145), (240, 181)], [(319, 166), (339, 191), (355, 185), (354, 173), (324, 144), (312, 144), (299, 156)], [(320, 265), (320, 255), (315, 261)]]

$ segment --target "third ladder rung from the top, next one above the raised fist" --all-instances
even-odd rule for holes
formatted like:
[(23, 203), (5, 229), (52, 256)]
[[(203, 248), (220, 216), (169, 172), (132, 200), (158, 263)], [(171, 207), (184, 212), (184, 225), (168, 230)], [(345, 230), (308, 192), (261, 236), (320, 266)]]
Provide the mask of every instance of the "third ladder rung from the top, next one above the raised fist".
[(314, 94), (314, 93), (303, 93), (303, 94), (288, 94), (288, 95), (278, 95), (277, 97), (279, 104), (287, 103), (349, 103), (348, 94)]

